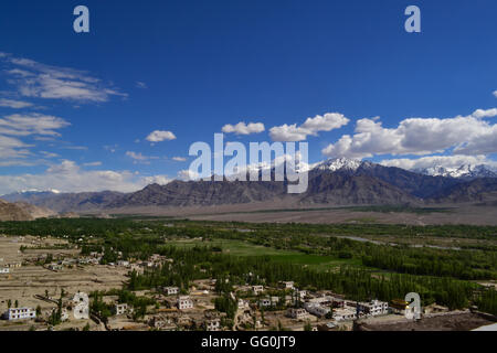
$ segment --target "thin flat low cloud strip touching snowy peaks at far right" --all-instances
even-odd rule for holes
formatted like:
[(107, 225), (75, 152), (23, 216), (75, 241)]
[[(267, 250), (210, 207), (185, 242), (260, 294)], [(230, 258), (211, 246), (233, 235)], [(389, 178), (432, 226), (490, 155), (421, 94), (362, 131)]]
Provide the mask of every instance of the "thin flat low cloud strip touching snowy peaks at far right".
[(426, 169), (432, 167), (458, 168), (463, 164), (488, 164), (497, 165), (497, 162), (487, 159), (486, 156), (427, 156), (417, 159), (399, 158), (388, 159), (379, 162), (387, 167), (398, 167), (406, 170)]

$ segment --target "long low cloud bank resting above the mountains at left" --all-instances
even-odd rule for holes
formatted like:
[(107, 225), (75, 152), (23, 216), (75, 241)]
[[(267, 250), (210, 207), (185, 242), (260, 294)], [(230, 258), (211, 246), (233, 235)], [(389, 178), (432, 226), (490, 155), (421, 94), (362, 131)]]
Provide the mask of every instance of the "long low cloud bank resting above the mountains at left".
[(134, 192), (152, 183), (167, 183), (167, 175), (140, 175), (130, 171), (87, 171), (74, 161), (64, 160), (41, 174), (0, 175), (0, 194), (35, 189), (56, 189), (61, 192), (113, 190)]

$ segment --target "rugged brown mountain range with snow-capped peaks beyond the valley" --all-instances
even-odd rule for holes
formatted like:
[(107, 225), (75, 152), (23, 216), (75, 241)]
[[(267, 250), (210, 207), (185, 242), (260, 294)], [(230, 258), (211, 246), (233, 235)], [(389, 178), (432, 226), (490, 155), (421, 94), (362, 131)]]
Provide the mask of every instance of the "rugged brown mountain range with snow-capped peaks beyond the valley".
[(27, 191), (1, 196), (56, 212), (137, 206), (208, 206), (285, 201), (289, 204), (387, 205), (483, 202), (497, 196), (497, 174), (484, 165), (408, 171), (369, 161), (330, 159), (313, 165), (308, 189), (288, 194), (287, 181), (180, 181), (133, 193)]

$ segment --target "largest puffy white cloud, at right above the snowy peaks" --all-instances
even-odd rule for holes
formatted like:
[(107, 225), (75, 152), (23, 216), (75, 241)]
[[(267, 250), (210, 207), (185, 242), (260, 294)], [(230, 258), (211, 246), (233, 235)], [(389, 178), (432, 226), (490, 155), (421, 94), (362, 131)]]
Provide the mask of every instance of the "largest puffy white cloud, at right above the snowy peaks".
[[(491, 110), (491, 109), (490, 109)], [(328, 157), (366, 158), (381, 154), (433, 154), (454, 149), (457, 154), (486, 154), (497, 151), (497, 128), (483, 120), (490, 110), (454, 118), (409, 118), (395, 128), (384, 128), (374, 119), (360, 119), (355, 135), (343, 135), (322, 149)]]

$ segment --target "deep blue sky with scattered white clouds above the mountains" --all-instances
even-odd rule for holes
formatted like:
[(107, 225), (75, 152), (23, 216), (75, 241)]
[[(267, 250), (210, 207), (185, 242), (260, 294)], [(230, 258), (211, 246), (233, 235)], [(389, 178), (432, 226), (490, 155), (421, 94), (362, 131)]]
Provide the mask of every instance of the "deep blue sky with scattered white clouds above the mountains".
[(226, 140), (306, 140), (310, 162), (495, 164), (496, 15), (493, 0), (2, 1), (0, 193), (166, 182), (241, 121), (264, 131)]

